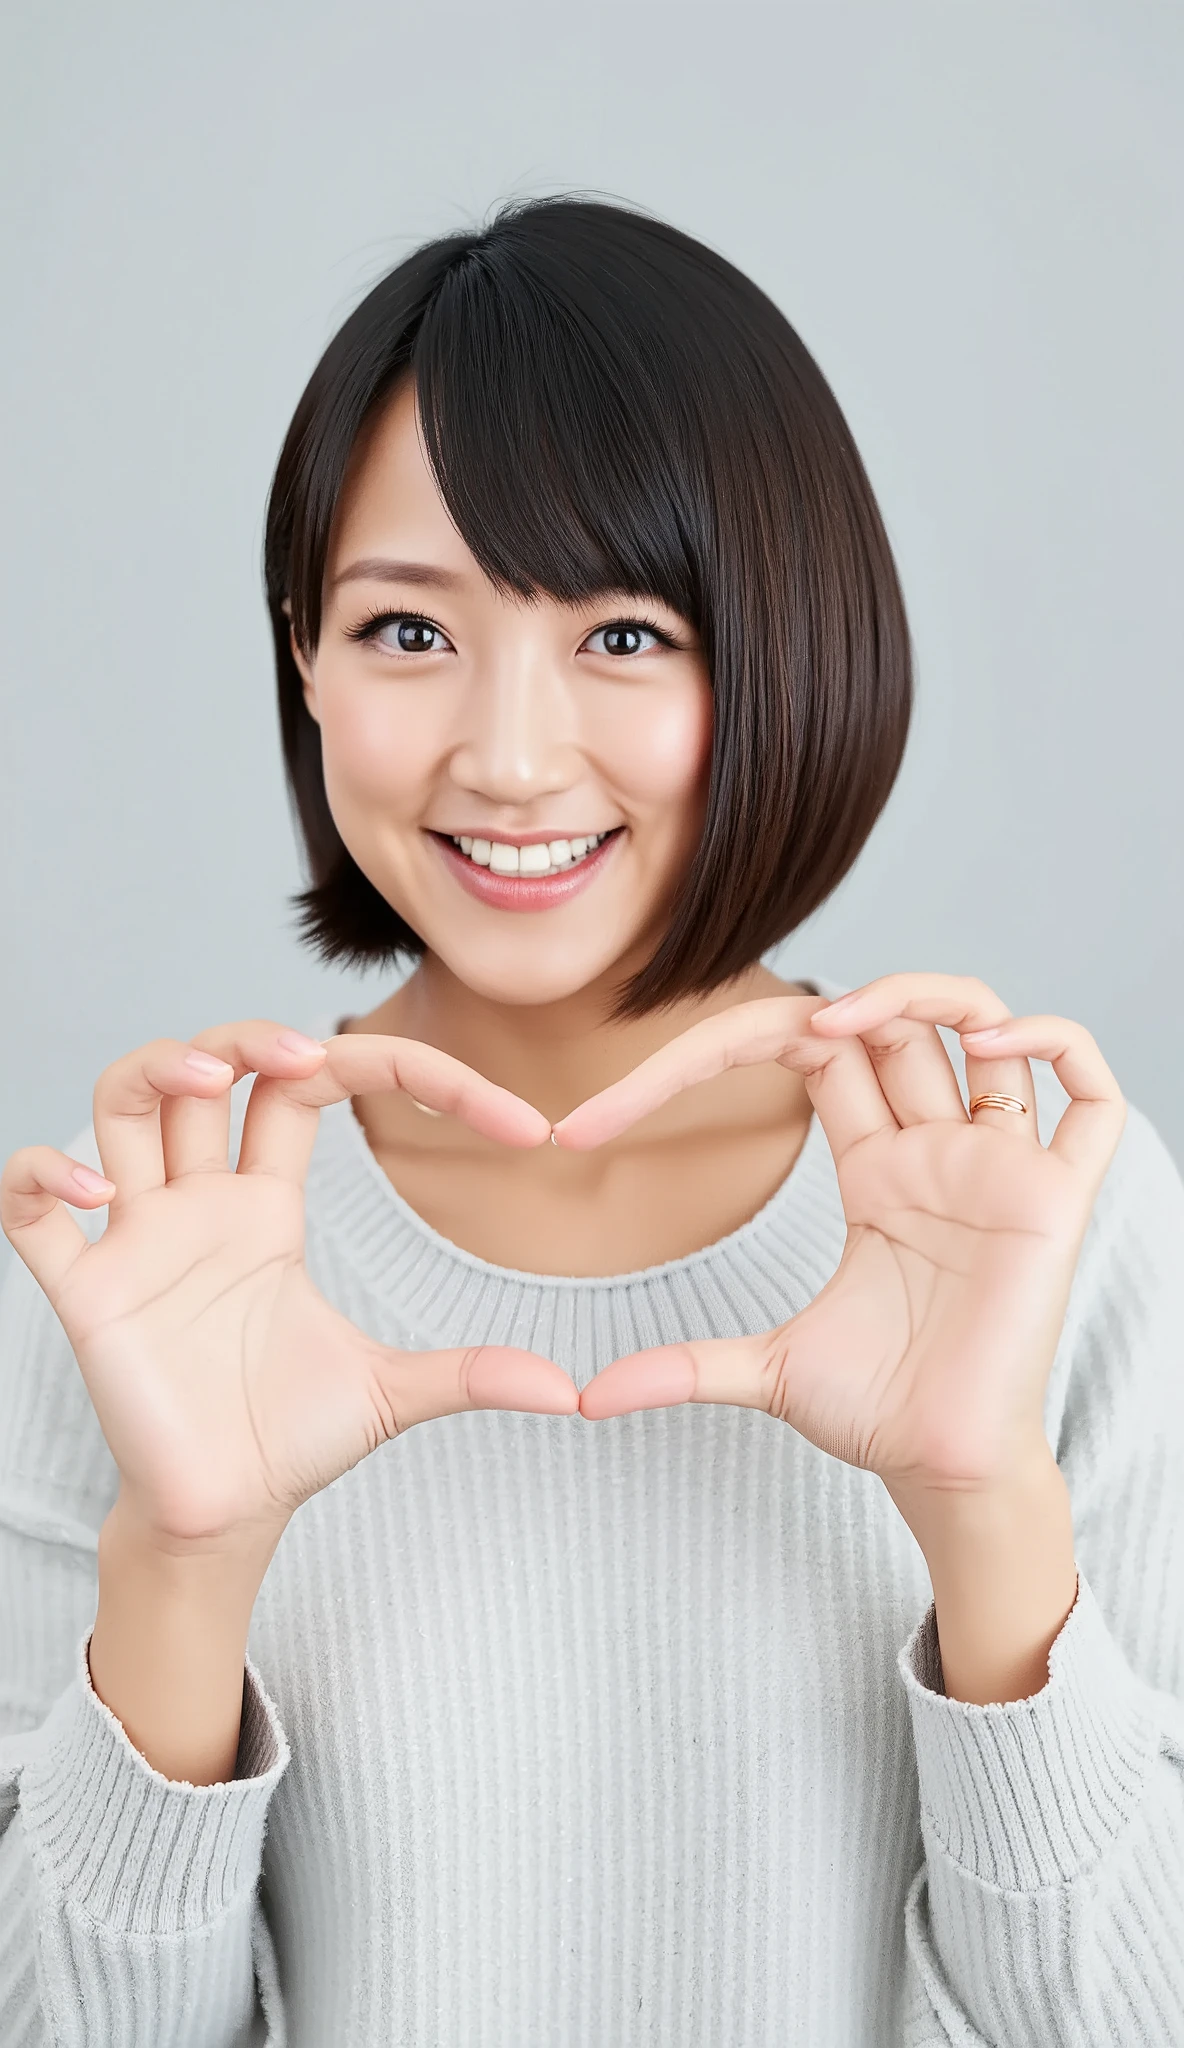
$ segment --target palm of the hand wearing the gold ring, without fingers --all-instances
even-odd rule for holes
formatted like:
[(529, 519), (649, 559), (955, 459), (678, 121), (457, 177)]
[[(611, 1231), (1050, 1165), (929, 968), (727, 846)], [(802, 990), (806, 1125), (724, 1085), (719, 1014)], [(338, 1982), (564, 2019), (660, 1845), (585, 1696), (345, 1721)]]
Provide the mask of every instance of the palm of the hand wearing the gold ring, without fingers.
[[(1063, 1161), (971, 1124), (881, 1130), (838, 1165), (838, 1270), (774, 1343), (774, 1413), (848, 1464), (973, 1483), (1032, 1417), (1080, 1239)], [(1049, 1356), (1051, 1356), (1049, 1350)]]

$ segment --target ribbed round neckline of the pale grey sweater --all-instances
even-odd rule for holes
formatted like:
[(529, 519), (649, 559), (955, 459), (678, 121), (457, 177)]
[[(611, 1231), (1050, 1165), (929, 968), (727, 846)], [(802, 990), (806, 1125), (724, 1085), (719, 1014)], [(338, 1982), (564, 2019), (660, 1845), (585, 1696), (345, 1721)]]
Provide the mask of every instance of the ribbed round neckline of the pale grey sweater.
[[(795, 979), (828, 999), (846, 993), (846, 985), (817, 975)], [(342, 1022), (346, 1018), (322, 1018), (320, 1026), (313, 1026), (313, 1036), (332, 1036)], [(498, 1266), (445, 1237), (399, 1194), (385, 1174), (348, 1096), (322, 1110), (318, 1153), (326, 1167), (330, 1157), (336, 1161), (338, 1171), (330, 1171), (330, 1180), (342, 1192), (344, 1206), (338, 1204), (338, 1217), (371, 1278), (381, 1284), (395, 1274), (408, 1278), (414, 1270), (416, 1294), (434, 1298), (440, 1309), (445, 1300), (455, 1298), (457, 1290), (469, 1294), (473, 1286), (494, 1290), (498, 1296), (518, 1296), (520, 1290), (553, 1296), (592, 1296), (635, 1288), (666, 1292), (680, 1280), (703, 1284), (735, 1274), (739, 1268), (748, 1268), (754, 1257), (764, 1264), (762, 1253), (770, 1237), (778, 1243), (799, 1241), (803, 1251), (813, 1249), (823, 1264), (834, 1253), (836, 1233), (830, 1214), (834, 1208), (834, 1159), (817, 1112), (811, 1114), (789, 1174), (752, 1217), (723, 1237), (678, 1257), (615, 1274), (541, 1274), (522, 1266)], [(348, 1200), (344, 1198), (346, 1188)], [(811, 1243), (813, 1239), (817, 1243)], [(805, 1264), (815, 1268), (817, 1257), (807, 1255)]]

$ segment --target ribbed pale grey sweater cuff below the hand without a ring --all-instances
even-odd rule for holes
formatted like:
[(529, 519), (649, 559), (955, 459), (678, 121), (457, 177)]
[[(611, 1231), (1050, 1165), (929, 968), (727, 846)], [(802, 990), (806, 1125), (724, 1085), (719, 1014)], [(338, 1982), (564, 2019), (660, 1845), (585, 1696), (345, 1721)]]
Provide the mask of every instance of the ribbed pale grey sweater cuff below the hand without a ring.
[(41, 1880), (107, 1929), (188, 1933), (254, 1890), (291, 1751), (248, 1657), (236, 1776), (213, 1786), (164, 1778), (90, 1683), (92, 1626), (20, 1767), (29, 1851)]

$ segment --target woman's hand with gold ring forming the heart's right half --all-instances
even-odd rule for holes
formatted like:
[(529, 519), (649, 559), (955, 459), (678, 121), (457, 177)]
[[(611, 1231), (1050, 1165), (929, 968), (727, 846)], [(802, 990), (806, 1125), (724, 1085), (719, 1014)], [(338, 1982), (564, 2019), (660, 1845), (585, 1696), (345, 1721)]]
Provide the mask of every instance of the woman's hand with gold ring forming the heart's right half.
[[(936, 1026), (967, 1051), (967, 1116)], [(996, 1028), (975, 1042), (969, 1034)], [(991, 1491), (1049, 1458), (1045, 1391), (1094, 1198), (1127, 1104), (1067, 1018), (1012, 1018), (981, 981), (883, 975), (840, 1004), (770, 997), (694, 1024), (580, 1104), (555, 1143), (590, 1149), (725, 1067), (799, 1071), (834, 1153), (846, 1245), (778, 1329), (619, 1358), (588, 1419), (678, 1401), (758, 1407), (889, 1491)], [(1071, 1098), (1047, 1147), (1030, 1059)]]

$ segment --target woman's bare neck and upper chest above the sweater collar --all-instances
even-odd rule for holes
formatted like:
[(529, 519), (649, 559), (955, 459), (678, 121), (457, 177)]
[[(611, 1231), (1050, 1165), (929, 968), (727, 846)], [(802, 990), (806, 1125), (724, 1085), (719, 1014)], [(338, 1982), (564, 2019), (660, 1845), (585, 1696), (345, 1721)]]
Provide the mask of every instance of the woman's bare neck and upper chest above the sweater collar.
[[(492, 1004), (426, 958), (354, 1032), (440, 1047), (555, 1122), (699, 1018), (801, 995), (764, 967), (672, 1010), (610, 1022), (610, 991)], [(399, 1090), (352, 1098), (404, 1200), (473, 1257), (535, 1274), (623, 1274), (699, 1251), (756, 1214), (791, 1171), (811, 1118), (799, 1073), (731, 1067), (588, 1153), (496, 1145)]]

